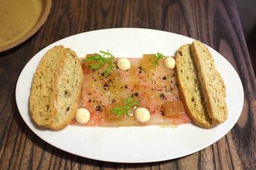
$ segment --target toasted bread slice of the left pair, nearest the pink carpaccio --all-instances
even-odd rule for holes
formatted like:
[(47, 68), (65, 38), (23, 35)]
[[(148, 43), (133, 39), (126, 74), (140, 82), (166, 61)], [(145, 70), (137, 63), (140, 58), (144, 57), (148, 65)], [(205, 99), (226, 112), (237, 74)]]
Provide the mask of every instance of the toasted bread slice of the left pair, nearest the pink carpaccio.
[(53, 123), (49, 125), (52, 130), (61, 130), (70, 124), (75, 117), (82, 94), (83, 72), (80, 60), (71, 49), (67, 49), (65, 55), (66, 60), (57, 86), (57, 114)]

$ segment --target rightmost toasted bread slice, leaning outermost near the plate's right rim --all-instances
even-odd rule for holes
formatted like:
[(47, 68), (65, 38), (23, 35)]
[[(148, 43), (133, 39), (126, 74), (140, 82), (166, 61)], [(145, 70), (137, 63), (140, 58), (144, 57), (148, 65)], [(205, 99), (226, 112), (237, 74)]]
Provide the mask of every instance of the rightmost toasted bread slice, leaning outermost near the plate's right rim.
[(215, 68), (213, 57), (203, 43), (194, 41), (191, 50), (198, 69), (198, 77), (207, 103), (208, 114), (215, 124), (220, 124), (228, 119), (223, 79)]

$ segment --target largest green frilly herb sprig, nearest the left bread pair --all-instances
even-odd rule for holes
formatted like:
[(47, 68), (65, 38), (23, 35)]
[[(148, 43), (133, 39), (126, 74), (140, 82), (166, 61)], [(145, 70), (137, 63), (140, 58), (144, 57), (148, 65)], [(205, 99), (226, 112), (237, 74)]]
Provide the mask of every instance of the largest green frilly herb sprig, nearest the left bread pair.
[(83, 61), (92, 62), (95, 61), (95, 64), (88, 64), (87, 67), (89, 69), (100, 69), (101, 67), (105, 66), (105, 64), (108, 64), (107, 69), (103, 72), (104, 75), (108, 75), (110, 72), (113, 71), (113, 59), (114, 56), (109, 52), (100, 51), (101, 54), (95, 53), (93, 56), (88, 56), (86, 59), (83, 59)]

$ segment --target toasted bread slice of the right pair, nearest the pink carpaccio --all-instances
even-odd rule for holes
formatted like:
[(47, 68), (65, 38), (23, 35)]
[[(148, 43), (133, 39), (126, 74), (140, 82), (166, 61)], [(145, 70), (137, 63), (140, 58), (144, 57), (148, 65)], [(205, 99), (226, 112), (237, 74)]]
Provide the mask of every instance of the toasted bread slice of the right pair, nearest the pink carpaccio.
[(190, 45), (183, 45), (176, 53), (176, 72), (181, 97), (186, 111), (200, 127), (210, 128), (214, 124), (207, 114), (197, 67), (192, 59)]

